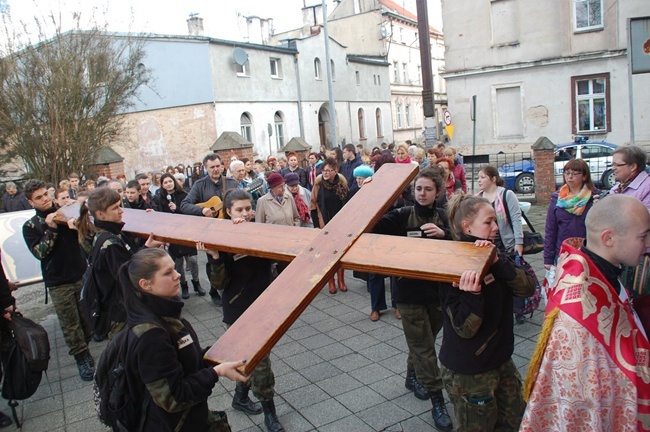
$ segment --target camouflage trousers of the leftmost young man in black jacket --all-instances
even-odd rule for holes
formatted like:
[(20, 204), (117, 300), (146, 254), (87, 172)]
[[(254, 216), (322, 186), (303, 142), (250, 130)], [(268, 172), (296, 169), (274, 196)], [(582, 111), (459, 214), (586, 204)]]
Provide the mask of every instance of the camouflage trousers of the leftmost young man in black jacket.
[(81, 308), (81, 280), (72, 284), (49, 288), (52, 304), (59, 318), (68, 354), (77, 355), (88, 349), (93, 331), (83, 316)]

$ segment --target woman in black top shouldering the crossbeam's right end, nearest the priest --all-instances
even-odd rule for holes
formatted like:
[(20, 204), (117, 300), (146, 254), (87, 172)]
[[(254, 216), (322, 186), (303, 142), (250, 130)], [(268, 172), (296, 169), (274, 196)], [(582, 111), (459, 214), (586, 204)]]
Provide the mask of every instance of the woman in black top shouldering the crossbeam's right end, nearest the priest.
[[(499, 227), (492, 204), (482, 197), (454, 194), (449, 201), (452, 237), (491, 247)], [(535, 281), (497, 249), (481, 278), (465, 271), (460, 282), (440, 284), (443, 338), (442, 376), (459, 430), (519, 429), (524, 413), (521, 376), (512, 361), (512, 296), (529, 297)]]

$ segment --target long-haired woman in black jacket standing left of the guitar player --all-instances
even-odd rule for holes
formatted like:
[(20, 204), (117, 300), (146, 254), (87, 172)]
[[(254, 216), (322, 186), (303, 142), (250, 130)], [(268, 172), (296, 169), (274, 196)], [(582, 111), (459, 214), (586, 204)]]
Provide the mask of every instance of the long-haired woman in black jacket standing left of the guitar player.
[[(156, 195), (154, 196), (153, 208), (154, 210), (163, 213), (180, 214), (180, 203), (183, 202), (186, 196), (187, 192), (183, 190), (182, 186), (176, 181), (174, 176), (165, 173), (160, 177), (160, 189), (156, 191)], [(201, 282), (199, 282), (199, 264), (197, 261), (196, 248), (170, 244), (169, 255), (171, 255), (172, 259), (176, 263), (176, 271), (181, 275), (181, 296), (183, 299), (190, 298), (187, 279), (185, 278), (185, 269), (183, 268), (185, 257), (187, 257), (189, 261), (194, 292), (200, 296), (204, 296), (205, 290), (201, 287)]]

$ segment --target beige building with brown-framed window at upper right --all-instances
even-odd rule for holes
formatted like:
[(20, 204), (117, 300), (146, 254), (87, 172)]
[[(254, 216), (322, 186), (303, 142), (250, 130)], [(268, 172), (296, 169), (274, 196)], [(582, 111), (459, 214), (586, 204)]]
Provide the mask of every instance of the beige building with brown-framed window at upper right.
[[(467, 11), (472, 13), (468, 14)], [(630, 141), (626, 22), (649, 2), (444, 0), (453, 144), (471, 154), (530, 151), (546, 136)], [(650, 147), (650, 75), (633, 76), (636, 144)]]

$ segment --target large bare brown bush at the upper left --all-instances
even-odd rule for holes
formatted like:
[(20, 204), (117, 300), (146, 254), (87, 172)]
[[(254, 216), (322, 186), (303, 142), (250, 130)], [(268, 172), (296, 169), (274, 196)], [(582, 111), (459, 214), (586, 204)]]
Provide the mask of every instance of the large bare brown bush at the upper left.
[[(28, 176), (46, 181), (84, 172), (101, 149), (123, 129), (123, 116), (150, 85), (143, 66), (146, 38), (109, 34), (96, 23), (64, 32), (61, 17), (50, 14), (54, 36), (38, 34), (20, 44), (3, 14), (7, 52), (0, 59), (0, 162), (20, 160)], [(16, 27), (12, 27), (16, 28)]]

